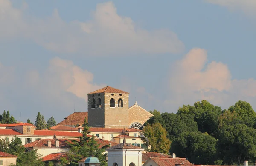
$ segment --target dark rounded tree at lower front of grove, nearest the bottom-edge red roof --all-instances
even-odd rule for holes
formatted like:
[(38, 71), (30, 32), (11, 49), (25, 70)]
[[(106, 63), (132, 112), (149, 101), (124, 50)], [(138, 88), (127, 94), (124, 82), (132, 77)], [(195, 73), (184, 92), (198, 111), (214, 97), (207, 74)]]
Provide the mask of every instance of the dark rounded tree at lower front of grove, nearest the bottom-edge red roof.
[(188, 158), (193, 164), (215, 164), (217, 140), (207, 133), (184, 132), (171, 145), (170, 152)]

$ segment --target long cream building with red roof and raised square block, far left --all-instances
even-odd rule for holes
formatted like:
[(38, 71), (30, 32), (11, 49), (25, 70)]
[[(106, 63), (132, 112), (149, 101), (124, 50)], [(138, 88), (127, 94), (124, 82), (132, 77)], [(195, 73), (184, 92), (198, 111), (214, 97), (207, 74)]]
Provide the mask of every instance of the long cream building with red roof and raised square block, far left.
[(29, 123), (8, 124), (5, 129), (0, 129), (2, 139), (5, 138), (7, 141), (11, 141), (15, 135), (21, 139), (22, 145), (39, 139), (52, 139), (53, 135), (58, 139), (76, 139), (82, 136), (79, 132), (35, 130), (35, 126)]

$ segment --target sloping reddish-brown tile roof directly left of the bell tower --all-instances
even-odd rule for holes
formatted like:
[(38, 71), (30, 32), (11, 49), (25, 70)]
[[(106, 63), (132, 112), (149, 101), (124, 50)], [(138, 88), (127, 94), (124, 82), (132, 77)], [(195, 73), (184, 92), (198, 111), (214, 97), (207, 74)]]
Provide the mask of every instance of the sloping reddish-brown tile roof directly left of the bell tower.
[(65, 117), (65, 120), (58, 123), (58, 125), (75, 126), (77, 124), (84, 124), (84, 118), (88, 120), (88, 112), (74, 112)]

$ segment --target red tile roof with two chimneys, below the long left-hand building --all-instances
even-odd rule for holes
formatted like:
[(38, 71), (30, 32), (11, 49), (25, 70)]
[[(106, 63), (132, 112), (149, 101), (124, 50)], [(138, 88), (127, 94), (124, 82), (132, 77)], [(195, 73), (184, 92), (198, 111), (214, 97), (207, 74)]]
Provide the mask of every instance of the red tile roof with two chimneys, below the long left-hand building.
[[(49, 148), (55, 148), (55, 141), (59, 141), (59, 147), (60, 148), (68, 148), (69, 145), (68, 143), (72, 143), (72, 140), (70, 139), (41, 139), (41, 140), (36, 140), (31, 143), (27, 143), (24, 145), (25, 148), (47, 148), (48, 147), (48, 141), (51, 141), (51, 147)], [(74, 141), (79, 141), (79, 139), (75, 139)]]

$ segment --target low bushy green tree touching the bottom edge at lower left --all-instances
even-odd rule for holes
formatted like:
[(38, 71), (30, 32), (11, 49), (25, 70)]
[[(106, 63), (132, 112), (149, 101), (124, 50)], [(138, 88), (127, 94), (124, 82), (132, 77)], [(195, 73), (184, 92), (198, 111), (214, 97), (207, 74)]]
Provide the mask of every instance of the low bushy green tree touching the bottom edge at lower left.
[(22, 153), (17, 158), (16, 166), (44, 166), (44, 162), (42, 159), (38, 159), (39, 157), (36, 150)]

